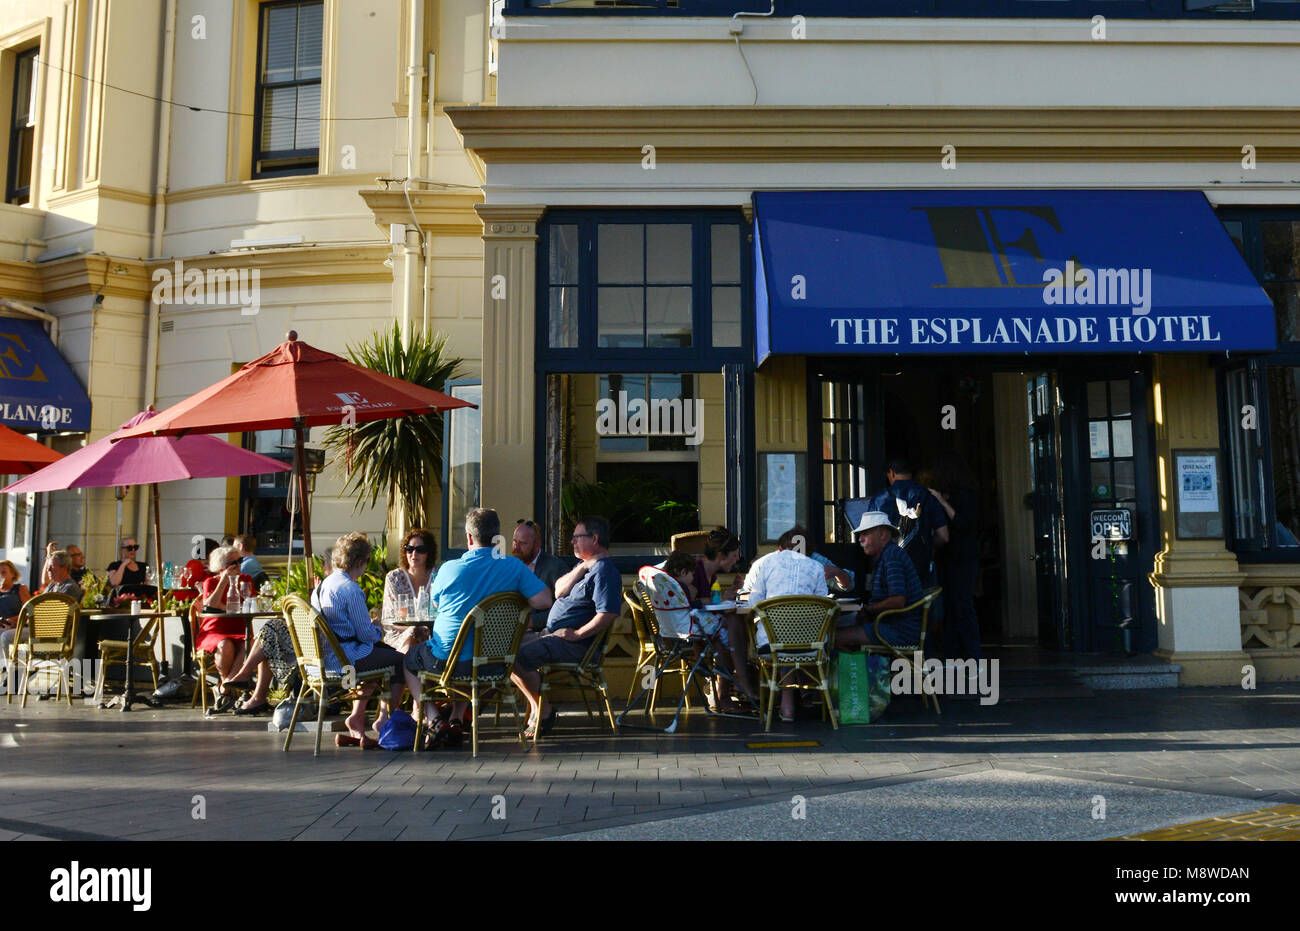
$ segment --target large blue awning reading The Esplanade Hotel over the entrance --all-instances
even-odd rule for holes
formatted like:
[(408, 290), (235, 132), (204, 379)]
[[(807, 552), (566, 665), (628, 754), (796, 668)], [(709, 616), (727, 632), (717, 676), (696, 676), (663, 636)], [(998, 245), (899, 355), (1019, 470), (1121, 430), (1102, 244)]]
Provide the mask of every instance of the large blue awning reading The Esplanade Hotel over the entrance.
[(1200, 191), (758, 192), (754, 261), (759, 363), (1277, 348)]

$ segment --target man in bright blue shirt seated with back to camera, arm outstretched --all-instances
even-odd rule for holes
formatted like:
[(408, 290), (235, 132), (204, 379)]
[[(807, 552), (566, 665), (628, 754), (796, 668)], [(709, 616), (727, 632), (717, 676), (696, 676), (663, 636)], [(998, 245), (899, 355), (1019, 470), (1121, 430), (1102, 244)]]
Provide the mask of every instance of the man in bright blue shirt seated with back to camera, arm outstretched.
[[(476, 507), (465, 515), (465, 555), (450, 559), (438, 570), (429, 584), (429, 601), (437, 611), (433, 632), (424, 644), (411, 648), (406, 657), (407, 688), (420, 693), (419, 675), (442, 672), (455, 646), (456, 635), (474, 605), (490, 594), (517, 592), (538, 610), (551, 606), (551, 592), (515, 557), (497, 553), (494, 540), (500, 538), (500, 518), (486, 507)], [(468, 676), (473, 659), (473, 641), (465, 637), (464, 648), (456, 657), (455, 675)], [(424, 702), (425, 718), (430, 722), (430, 741), (438, 746), (456, 746), (462, 740), (462, 720), (465, 702), (454, 702), (451, 720), (446, 722), (433, 711), (433, 702)]]

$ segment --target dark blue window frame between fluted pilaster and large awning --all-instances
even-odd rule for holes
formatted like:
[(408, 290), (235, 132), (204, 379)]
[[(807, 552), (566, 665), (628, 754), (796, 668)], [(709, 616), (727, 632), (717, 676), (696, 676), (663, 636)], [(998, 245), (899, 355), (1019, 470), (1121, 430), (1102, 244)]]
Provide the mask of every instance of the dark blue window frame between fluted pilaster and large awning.
[[(597, 346), (597, 228), (599, 224), (664, 224), (692, 226), (692, 345), (682, 348), (636, 347), (615, 348)], [(741, 252), (741, 295), (740, 322), (741, 345), (736, 347), (712, 347), (712, 259), (710, 250), (710, 226), (736, 225), (740, 230)], [(577, 225), (578, 228), (578, 346), (575, 348), (551, 348), (550, 346), (550, 241), (551, 226)], [(753, 371), (754, 371), (754, 261), (751, 247), (753, 226), (745, 220), (740, 208), (698, 208), (698, 209), (568, 209), (547, 211), (537, 225), (537, 320), (534, 326), (534, 385), (533, 423), (537, 424), (533, 439), (533, 499), (546, 501), (546, 382), (552, 374), (599, 374), (604, 372), (682, 372), (682, 373), (722, 373), (727, 365), (740, 367), (744, 372), (742, 389), (745, 399), (740, 406), (753, 420)], [(745, 481), (741, 507), (753, 510), (754, 489), (746, 476), (754, 475), (753, 430), (748, 430), (748, 441), (740, 451), (740, 462), (733, 477), (728, 464), (728, 488), (732, 482)], [(737, 519), (740, 523), (740, 519)], [(750, 523), (751, 519), (750, 519)], [(748, 541), (746, 541), (748, 542)], [(615, 566), (620, 572), (636, 572), (645, 564), (642, 557), (616, 557)]]

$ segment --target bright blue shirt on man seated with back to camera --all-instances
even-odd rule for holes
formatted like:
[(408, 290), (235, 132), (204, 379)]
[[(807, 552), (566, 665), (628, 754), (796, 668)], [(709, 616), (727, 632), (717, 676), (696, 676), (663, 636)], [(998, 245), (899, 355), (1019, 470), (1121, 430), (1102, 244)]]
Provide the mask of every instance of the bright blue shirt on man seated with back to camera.
[[(451, 654), (465, 615), (488, 596), (519, 592), (525, 598), (532, 598), (546, 589), (546, 584), (519, 559), (494, 559), (494, 553), (491, 546), (469, 550), (460, 559), (445, 562), (433, 577), (429, 599), (437, 606), (438, 616), (433, 622), (429, 649), (438, 659), (446, 659)], [(473, 659), (473, 641), (467, 637), (458, 662)]]

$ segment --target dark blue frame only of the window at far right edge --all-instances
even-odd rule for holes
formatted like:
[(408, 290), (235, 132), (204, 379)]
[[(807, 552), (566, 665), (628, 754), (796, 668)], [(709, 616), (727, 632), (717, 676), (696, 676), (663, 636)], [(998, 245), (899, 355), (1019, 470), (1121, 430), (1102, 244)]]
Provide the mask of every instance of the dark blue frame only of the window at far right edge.
[[(1300, 221), (1300, 208), (1225, 208), (1218, 211), (1219, 220), (1242, 224), (1242, 250), (1245, 264), (1251, 268), (1260, 285), (1269, 283), (1264, 270), (1262, 224), (1269, 220)], [(1278, 342), (1278, 350), (1268, 355), (1240, 359), (1218, 359), (1218, 398), (1219, 398), (1219, 456), (1225, 464), (1225, 511), (1228, 549), (1236, 553), (1243, 563), (1300, 563), (1300, 547), (1279, 547), (1273, 540), (1277, 523), (1273, 477), (1273, 437), (1269, 411), (1268, 371), (1271, 367), (1300, 367), (1300, 342)], [(1242, 429), (1242, 412), (1228, 404), (1227, 380), (1234, 374), (1247, 373), (1252, 399), (1256, 404), (1257, 429), (1260, 430), (1260, 458), (1264, 464), (1264, 481), (1258, 489), (1262, 495), (1261, 525), (1264, 532), (1253, 537), (1236, 536), (1236, 489), (1232, 488), (1232, 449), (1228, 434)]]

